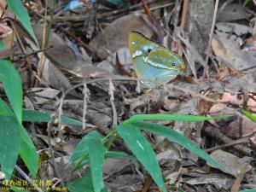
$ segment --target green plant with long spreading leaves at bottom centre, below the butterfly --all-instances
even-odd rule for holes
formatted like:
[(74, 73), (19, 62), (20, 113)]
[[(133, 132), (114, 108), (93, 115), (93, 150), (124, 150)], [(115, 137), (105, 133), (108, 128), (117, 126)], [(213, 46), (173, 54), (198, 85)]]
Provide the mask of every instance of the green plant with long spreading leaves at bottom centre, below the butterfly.
[[(164, 179), (160, 172), (160, 166), (156, 160), (154, 150), (151, 148), (150, 143), (146, 137), (143, 136), (141, 131), (150, 131), (155, 134), (166, 137), (168, 140), (174, 143), (182, 145), (184, 148), (189, 149), (189, 151), (197, 154), (202, 159), (207, 160), (210, 164), (218, 167), (218, 169), (223, 172), (228, 172), (224, 166), (220, 165), (216, 160), (212, 159), (204, 150), (199, 148), (195, 143), (192, 143), (186, 137), (183, 137), (177, 131), (172, 130), (170, 127), (164, 125), (158, 125), (156, 123), (149, 123), (145, 120), (180, 120), (180, 121), (203, 121), (209, 119), (224, 119), (228, 118), (230, 115), (218, 116), (215, 118), (203, 117), (203, 116), (193, 116), (193, 115), (177, 115), (177, 114), (137, 114), (131, 117), (131, 119), (125, 120), (121, 125), (115, 125), (113, 130), (108, 134), (107, 137), (102, 137), (98, 132), (92, 131), (87, 134), (80, 141), (78, 146), (75, 148), (73, 155), (69, 161), (70, 165), (75, 165), (76, 169), (84, 166), (84, 164), (90, 163), (90, 174), (84, 177), (84, 181), (88, 181), (88, 177), (91, 177), (91, 182), (88, 182), (87, 185), (84, 183), (83, 187), (85, 189), (94, 189), (88, 191), (100, 192), (105, 190), (102, 177), (102, 165), (107, 158), (128, 158), (136, 162), (137, 160), (142, 163), (151, 177), (154, 179), (154, 182), (160, 187), (162, 191), (166, 191), (164, 184)], [(111, 137), (119, 135), (122, 137), (128, 147), (131, 149), (131, 152), (135, 154), (136, 157), (124, 152), (115, 152), (112, 156), (109, 156), (109, 153), (105, 147), (105, 144), (108, 143), (108, 139)], [(82, 180), (81, 178), (78, 183)], [(80, 185), (77, 183), (71, 183), (71, 191), (79, 191)], [(87, 191), (87, 190), (86, 190)]]

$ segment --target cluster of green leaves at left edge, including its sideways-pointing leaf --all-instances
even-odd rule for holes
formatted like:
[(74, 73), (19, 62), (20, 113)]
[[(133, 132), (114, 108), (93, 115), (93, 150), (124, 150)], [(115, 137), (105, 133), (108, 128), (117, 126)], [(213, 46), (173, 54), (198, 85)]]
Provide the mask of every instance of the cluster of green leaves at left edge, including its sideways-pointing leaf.
[[(36, 177), (38, 153), (22, 121), (48, 122), (51, 113), (22, 109), (20, 75), (9, 60), (0, 61), (0, 82), (12, 108), (0, 98), (0, 164), (3, 172), (7, 179), (11, 177), (20, 154), (32, 177)], [(61, 117), (61, 120), (66, 124), (82, 125), (80, 121), (67, 117)]]

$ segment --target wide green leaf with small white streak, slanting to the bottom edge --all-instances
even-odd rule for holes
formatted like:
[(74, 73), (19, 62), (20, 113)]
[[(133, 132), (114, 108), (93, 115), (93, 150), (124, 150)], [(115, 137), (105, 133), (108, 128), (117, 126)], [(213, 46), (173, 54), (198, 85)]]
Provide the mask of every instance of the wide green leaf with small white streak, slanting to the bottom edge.
[(120, 137), (122, 137), (132, 153), (137, 156), (137, 159), (143, 164), (145, 169), (149, 172), (154, 182), (160, 187), (160, 189), (166, 192), (165, 183), (160, 172), (160, 166), (156, 160), (154, 150), (151, 148), (148, 140), (137, 129), (136, 126), (115, 125)]

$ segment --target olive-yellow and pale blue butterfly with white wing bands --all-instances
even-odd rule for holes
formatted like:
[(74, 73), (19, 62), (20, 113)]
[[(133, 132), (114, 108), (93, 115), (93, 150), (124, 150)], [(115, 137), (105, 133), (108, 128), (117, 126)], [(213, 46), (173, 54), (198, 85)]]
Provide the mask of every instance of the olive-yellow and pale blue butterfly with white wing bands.
[(185, 64), (177, 54), (139, 32), (130, 32), (129, 49), (137, 78), (150, 90), (167, 84), (184, 71)]

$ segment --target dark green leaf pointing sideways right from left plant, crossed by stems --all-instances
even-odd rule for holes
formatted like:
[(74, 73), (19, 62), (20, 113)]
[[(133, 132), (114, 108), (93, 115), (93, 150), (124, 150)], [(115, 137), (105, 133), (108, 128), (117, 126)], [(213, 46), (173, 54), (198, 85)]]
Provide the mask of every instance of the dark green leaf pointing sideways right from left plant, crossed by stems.
[[(44, 112), (44, 111), (23, 109), (22, 120), (23, 121), (49, 122), (50, 115), (53, 113), (54, 112)], [(63, 124), (67, 124), (67, 125), (79, 125), (79, 126), (83, 125), (83, 122), (76, 120), (76, 119), (68, 118), (66, 116), (61, 116), (61, 122)]]

